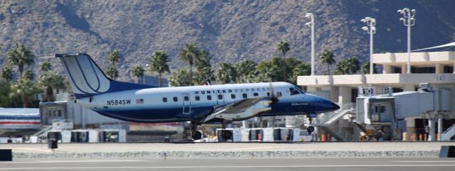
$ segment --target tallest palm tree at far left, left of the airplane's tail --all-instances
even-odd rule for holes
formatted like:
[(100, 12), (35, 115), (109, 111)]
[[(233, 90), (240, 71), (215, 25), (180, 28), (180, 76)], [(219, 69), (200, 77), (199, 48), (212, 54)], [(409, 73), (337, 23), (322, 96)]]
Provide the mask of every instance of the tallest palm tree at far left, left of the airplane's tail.
[(22, 78), (23, 67), (34, 63), (34, 55), (25, 45), (18, 45), (18, 43), (16, 43), (16, 48), (9, 50), (7, 55), (9, 66), (18, 66), (20, 79)]

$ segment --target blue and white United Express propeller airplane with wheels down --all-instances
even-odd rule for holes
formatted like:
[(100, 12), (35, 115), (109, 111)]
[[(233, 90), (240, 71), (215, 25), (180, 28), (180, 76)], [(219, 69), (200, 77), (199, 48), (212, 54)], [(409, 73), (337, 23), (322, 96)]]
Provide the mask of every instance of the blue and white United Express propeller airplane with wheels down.
[[(188, 122), (193, 140), (202, 138), (197, 127), (256, 116), (316, 114), (340, 109), (327, 99), (287, 82), (220, 84), (188, 87), (152, 87), (118, 82), (100, 70), (86, 53), (55, 54), (65, 67), (75, 103), (103, 116), (138, 123)], [(311, 122), (311, 119), (310, 119)], [(309, 133), (314, 131), (308, 126)], [(230, 139), (230, 131), (221, 136)]]

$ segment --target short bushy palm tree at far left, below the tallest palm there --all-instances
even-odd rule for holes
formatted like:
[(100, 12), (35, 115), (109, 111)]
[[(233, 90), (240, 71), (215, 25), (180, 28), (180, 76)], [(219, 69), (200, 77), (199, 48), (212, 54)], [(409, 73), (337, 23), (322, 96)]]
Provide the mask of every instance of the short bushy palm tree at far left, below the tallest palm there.
[(11, 85), (9, 97), (21, 96), (23, 108), (28, 108), (30, 97), (33, 97), (38, 92), (39, 89), (36, 87), (35, 82), (30, 79), (19, 79), (18, 82)]

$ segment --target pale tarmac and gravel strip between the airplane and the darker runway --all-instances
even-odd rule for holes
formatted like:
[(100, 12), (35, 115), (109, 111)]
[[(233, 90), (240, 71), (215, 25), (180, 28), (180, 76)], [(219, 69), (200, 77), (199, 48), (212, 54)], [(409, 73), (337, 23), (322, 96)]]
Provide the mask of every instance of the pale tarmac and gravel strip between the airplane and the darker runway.
[(436, 158), (455, 142), (60, 143), (0, 144), (14, 159), (31, 158)]

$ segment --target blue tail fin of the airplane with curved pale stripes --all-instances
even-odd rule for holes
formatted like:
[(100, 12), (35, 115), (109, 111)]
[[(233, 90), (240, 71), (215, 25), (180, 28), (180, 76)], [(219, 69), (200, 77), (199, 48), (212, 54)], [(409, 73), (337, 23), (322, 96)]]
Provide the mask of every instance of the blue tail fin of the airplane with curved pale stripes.
[(107, 92), (152, 88), (144, 84), (117, 82), (105, 73), (86, 53), (55, 54), (65, 67), (68, 81), (77, 99)]

